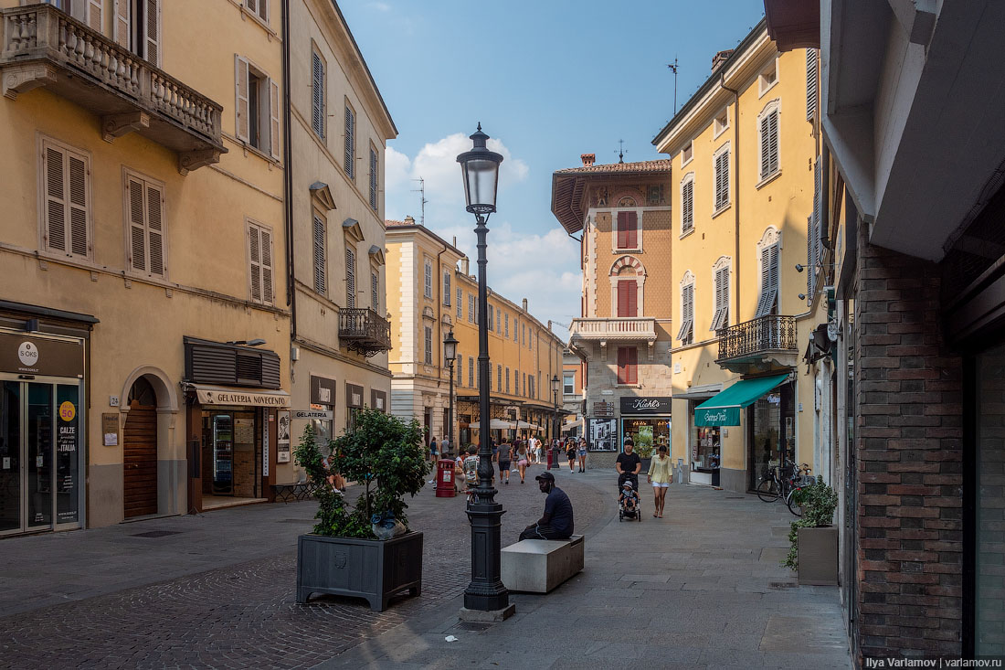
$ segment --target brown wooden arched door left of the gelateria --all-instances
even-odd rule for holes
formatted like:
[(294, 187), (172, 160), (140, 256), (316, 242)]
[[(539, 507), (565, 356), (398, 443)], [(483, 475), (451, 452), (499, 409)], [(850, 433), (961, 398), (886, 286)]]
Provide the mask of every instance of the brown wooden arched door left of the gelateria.
[(127, 519), (157, 514), (157, 393), (140, 377), (129, 391), (123, 429), (123, 506)]

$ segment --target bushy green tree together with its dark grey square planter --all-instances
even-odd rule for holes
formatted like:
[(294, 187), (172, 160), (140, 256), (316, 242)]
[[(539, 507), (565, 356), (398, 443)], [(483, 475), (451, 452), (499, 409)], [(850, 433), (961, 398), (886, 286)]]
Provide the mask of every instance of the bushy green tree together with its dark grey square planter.
[[(319, 506), (314, 532), (297, 540), (297, 603), (312, 594), (351, 596), (383, 612), (396, 594), (419, 595), (422, 533), (408, 531), (404, 496), (425, 484), (423, 450), (417, 422), (376, 409), (358, 413), (356, 429), (326, 446), (327, 458), (313, 428), (304, 430), (294, 454), (317, 484)], [(355, 503), (328, 484), (330, 471), (357, 483)]]

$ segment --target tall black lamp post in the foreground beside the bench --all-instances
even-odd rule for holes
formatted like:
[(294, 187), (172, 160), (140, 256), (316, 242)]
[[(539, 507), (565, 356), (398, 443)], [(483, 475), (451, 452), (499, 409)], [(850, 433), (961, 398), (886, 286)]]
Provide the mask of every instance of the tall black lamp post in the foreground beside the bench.
[(510, 605), (510, 592), (499, 578), (502, 549), (499, 530), (502, 505), (495, 502), (492, 487), (492, 451), (489, 442), (490, 417), (488, 414), (488, 294), (485, 288), (485, 235), (488, 233), (488, 215), (495, 211), (495, 193), (498, 189), (499, 163), (502, 156), (485, 146), (488, 136), (478, 130), (470, 136), (470, 151), (457, 156), (464, 178), (464, 198), (467, 211), (474, 214), (478, 237), (478, 485), (467, 504), (467, 518), (471, 523), (471, 582), (464, 591), (461, 619), (501, 621), (516, 608)]

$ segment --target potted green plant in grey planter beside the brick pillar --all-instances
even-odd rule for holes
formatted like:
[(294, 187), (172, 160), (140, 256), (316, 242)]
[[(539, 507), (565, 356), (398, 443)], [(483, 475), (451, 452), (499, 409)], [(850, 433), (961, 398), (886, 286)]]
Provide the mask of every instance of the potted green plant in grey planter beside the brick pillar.
[(837, 494), (823, 477), (798, 489), (793, 496), (803, 517), (789, 530), (789, 553), (784, 564), (796, 570), (800, 584), (837, 584), (837, 528), (832, 525)]

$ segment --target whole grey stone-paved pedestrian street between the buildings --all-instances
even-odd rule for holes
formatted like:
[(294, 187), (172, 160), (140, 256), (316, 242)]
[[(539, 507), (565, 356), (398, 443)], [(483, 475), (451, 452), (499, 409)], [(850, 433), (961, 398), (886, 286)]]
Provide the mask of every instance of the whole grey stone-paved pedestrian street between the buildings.
[[(541, 470), (499, 487), (504, 544), (540, 515)], [(293, 602), (312, 501), (6, 540), (0, 665), (850, 667), (837, 590), (796, 587), (780, 565), (783, 506), (673, 486), (658, 520), (643, 486), (643, 521), (619, 523), (612, 471), (553, 472), (587, 536), (586, 569), (548, 596), (514, 595), (517, 615), (501, 624), (458, 623), (470, 574), (463, 498), (427, 487), (410, 502), (422, 595), (384, 613)]]

